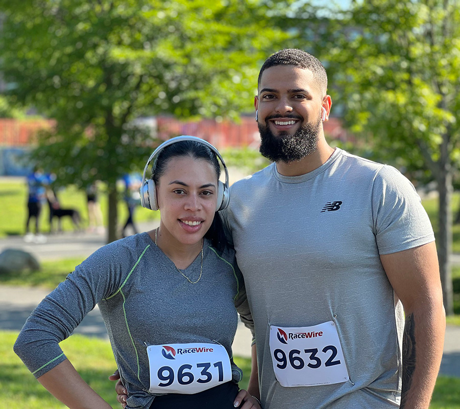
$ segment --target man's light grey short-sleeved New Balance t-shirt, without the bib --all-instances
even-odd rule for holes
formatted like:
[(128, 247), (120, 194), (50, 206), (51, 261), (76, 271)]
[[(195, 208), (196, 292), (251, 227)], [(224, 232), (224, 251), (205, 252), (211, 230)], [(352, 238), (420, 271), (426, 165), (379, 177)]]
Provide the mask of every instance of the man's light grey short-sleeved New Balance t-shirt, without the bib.
[[(224, 217), (255, 322), (264, 409), (399, 406), (404, 315), (379, 255), (434, 240), (410, 182), (393, 167), (336, 149), (310, 173), (287, 177), (272, 164), (231, 193)], [(269, 326), (329, 321), (350, 381), (282, 387)]]

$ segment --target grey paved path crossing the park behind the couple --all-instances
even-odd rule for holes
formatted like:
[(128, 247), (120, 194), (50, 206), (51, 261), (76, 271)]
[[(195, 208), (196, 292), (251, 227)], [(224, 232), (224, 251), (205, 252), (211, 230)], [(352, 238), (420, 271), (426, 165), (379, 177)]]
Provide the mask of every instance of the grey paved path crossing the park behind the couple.
[[(139, 223), (140, 230), (156, 228), (157, 222)], [(61, 234), (48, 236), (47, 243), (25, 243), (21, 237), (0, 239), (0, 253), (5, 248), (20, 248), (35, 255), (38, 260), (86, 257), (105, 244), (105, 237), (97, 234)], [(460, 255), (453, 255), (453, 263), (460, 263)], [(0, 285), (0, 329), (19, 331), (30, 312), (48, 293), (36, 288)], [(98, 308), (88, 314), (76, 333), (107, 338)], [(234, 341), (234, 353), (250, 356), (251, 335), (239, 323)], [(448, 326), (441, 363), (441, 374), (460, 377), (460, 327)]]

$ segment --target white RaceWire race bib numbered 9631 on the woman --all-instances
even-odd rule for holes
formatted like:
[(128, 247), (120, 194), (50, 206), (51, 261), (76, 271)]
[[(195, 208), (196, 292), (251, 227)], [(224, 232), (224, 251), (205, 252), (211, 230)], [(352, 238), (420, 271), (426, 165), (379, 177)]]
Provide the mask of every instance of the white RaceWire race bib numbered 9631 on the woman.
[(232, 367), (220, 344), (147, 347), (150, 393), (193, 394), (232, 380)]

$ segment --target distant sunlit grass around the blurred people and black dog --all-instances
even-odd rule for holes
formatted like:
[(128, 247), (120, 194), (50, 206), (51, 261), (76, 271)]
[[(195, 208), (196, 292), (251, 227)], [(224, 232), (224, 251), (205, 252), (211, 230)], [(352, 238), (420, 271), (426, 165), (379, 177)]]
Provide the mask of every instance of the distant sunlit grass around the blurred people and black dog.
[[(8, 179), (3, 179), (8, 180)], [(103, 191), (99, 194), (99, 202), (103, 214), (103, 222), (106, 224), (107, 219), (107, 194)], [(122, 199), (123, 189), (120, 189), (120, 199)], [(86, 194), (78, 190), (75, 186), (68, 186), (66, 189), (57, 192), (61, 207), (77, 209), (83, 219), (83, 226), (88, 225), (88, 212), (86, 207)], [(27, 185), (26, 181), (20, 181), (18, 178), (12, 178), (11, 181), (2, 181), (0, 183), (0, 238), (10, 235), (23, 235), (26, 230), (27, 220)], [(123, 200), (118, 204), (119, 224), (124, 223), (128, 217), (128, 212)], [(50, 224), (48, 222), (49, 209), (48, 205), (42, 207), (40, 215), (40, 231), (49, 232)], [(152, 212), (137, 207), (134, 214), (134, 221), (155, 220), (159, 217), (158, 212)], [(32, 219), (35, 222), (35, 219)], [(33, 225), (30, 226), (35, 231)], [(73, 225), (67, 217), (62, 219), (62, 229), (72, 231)]]

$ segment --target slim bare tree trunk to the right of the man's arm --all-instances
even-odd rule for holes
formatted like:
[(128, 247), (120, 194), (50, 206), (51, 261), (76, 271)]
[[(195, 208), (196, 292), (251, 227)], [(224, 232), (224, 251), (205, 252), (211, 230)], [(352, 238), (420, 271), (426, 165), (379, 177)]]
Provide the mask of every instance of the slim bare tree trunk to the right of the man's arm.
[(453, 289), (450, 255), (452, 253), (452, 174), (443, 172), (438, 179), (439, 191), (439, 236), (438, 258), (443, 286), (444, 308), (447, 315), (453, 314)]

